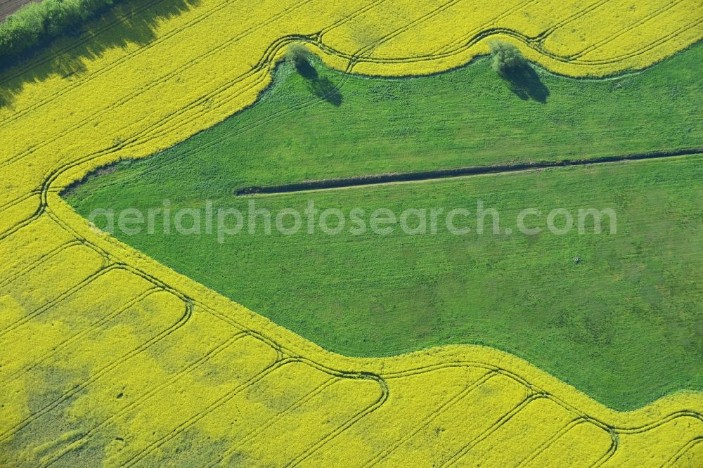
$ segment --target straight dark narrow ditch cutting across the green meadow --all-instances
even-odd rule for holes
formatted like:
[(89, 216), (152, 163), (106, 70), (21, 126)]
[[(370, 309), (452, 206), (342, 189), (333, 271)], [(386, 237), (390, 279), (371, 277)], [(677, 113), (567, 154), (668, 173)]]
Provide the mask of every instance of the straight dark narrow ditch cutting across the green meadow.
[(309, 192), (317, 190), (333, 190), (337, 188), (354, 188), (368, 186), (382, 186), (392, 183), (441, 181), (450, 178), (463, 178), (468, 176), (482, 176), (486, 174), (505, 174), (511, 172), (534, 171), (536, 169), (550, 169), (553, 167), (591, 166), (594, 164), (610, 164), (615, 162), (642, 161), (666, 159), (698, 155), (703, 153), (703, 148), (685, 148), (673, 151), (655, 151), (624, 156), (604, 156), (587, 160), (561, 160), (543, 162), (525, 162), (518, 164), (501, 164), (494, 166), (470, 166), (453, 169), (438, 169), (434, 171), (395, 172), (389, 174), (373, 174), (370, 176), (356, 176), (349, 178), (328, 178), (317, 181), (302, 181), (296, 183), (280, 184), (276, 186), (247, 187), (236, 190), (236, 195), (285, 195), (290, 193)]

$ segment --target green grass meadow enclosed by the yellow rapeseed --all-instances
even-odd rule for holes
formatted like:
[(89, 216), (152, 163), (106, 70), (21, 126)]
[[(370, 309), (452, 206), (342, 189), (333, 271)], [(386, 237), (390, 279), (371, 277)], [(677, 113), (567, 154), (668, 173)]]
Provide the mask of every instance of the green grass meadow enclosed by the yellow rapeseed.
[[(280, 67), (254, 107), (66, 195), (95, 208), (274, 214), (319, 209), (496, 209), (501, 233), (163, 234), (117, 238), (326, 349), (382, 356), (450, 343), (510, 351), (613, 408), (703, 389), (703, 158), (677, 157), (422, 183), (237, 197), (247, 186), (527, 161), (584, 160), (703, 142), (703, 47), (607, 81), (538, 71), (522, 100), (489, 61), (435, 77), (343, 77), (315, 99)], [(318, 82), (316, 82), (318, 83)], [(334, 101), (330, 103), (330, 100)], [(617, 234), (517, 232), (524, 208), (614, 209)], [(489, 218), (490, 219), (490, 218)], [(505, 228), (513, 230), (506, 234)], [(574, 257), (580, 257), (576, 264)]]

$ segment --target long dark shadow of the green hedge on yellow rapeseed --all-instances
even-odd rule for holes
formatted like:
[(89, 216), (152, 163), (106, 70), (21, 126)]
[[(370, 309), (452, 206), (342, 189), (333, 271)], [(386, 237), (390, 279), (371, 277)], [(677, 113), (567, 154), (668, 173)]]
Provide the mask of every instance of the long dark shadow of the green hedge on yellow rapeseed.
[(201, 0), (127, 0), (110, 8), (73, 34), (60, 37), (49, 48), (39, 47), (17, 60), (0, 63), (0, 108), (10, 106), (27, 84), (59, 75), (75, 79), (86, 63), (111, 48), (128, 44), (145, 46), (156, 39), (162, 22), (198, 6)]

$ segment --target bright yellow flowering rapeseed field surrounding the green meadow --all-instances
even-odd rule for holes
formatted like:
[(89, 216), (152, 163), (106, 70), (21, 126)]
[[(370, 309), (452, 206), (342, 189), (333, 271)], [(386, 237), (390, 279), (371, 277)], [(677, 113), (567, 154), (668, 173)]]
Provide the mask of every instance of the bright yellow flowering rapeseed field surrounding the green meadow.
[(501, 38), (604, 77), (701, 39), (699, 0), (168, 3), (127, 4), (0, 75), (0, 466), (700, 462), (701, 394), (615, 412), (482, 346), (337, 356), (93, 232), (59, 197), (251, 105), (288, 44), (404, 75)]

